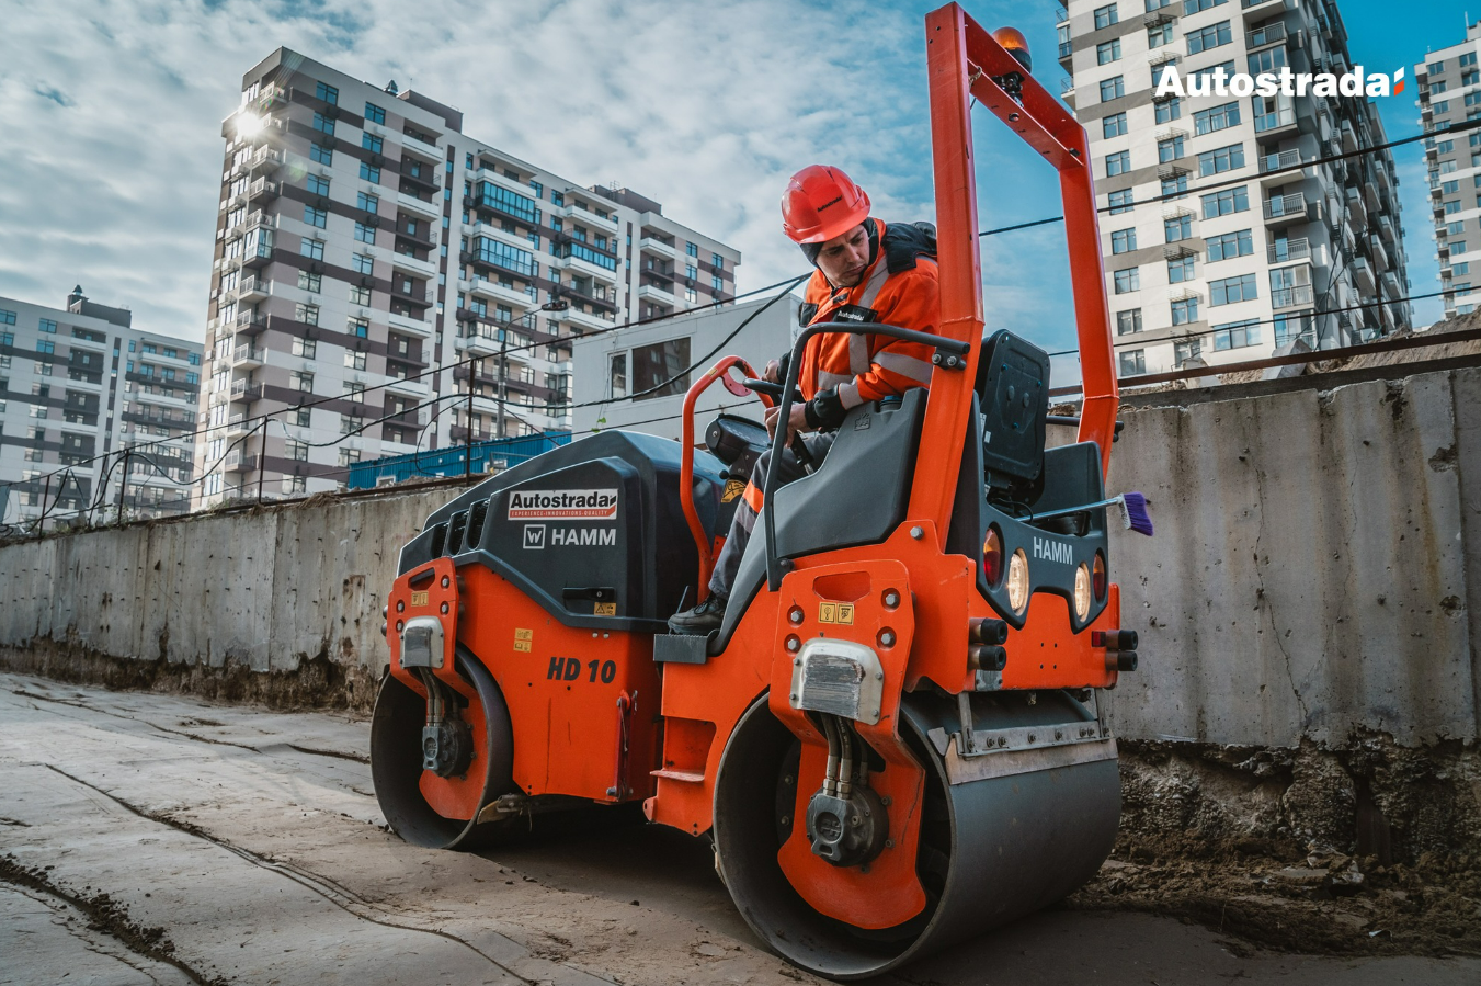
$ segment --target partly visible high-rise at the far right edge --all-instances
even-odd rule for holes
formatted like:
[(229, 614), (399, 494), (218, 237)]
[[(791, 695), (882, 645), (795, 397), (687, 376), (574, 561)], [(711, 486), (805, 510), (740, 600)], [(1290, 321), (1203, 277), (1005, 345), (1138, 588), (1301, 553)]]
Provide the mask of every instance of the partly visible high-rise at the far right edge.
[[(1425, 133), (1481, 117), (1481, 22), (1466, 25), (1460, 44), (1431, 52), (1414, 65), (1416, 104)], [(1425, 138), (1429, 206), (1440, 259), (1445, 317), (1475, 308), (1471, 264), (1481, 264), (1481, 129)], [(1481, 267), (1478, 267), (1481, 270)]]

